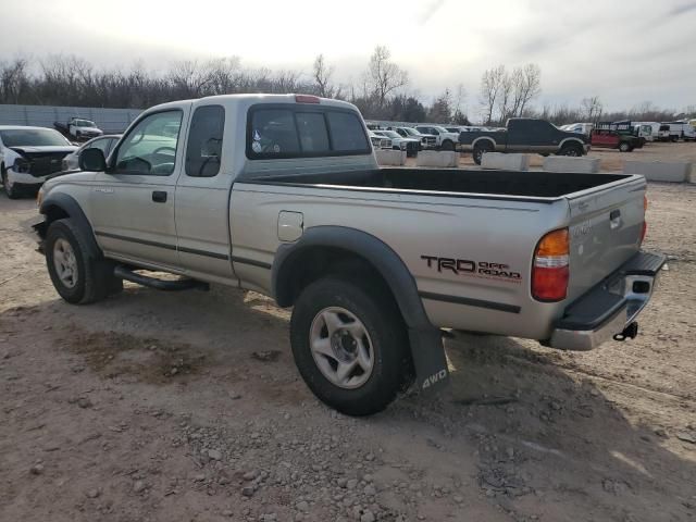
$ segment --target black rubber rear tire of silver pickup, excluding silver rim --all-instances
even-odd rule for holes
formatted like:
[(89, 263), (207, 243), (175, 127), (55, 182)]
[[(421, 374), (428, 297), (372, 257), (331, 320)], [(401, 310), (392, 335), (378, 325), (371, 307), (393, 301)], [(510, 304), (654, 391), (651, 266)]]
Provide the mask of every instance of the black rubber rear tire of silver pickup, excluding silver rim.
[[(330, 307), (339, 307), (356, 315), (370, 336), (372, 372), (361, 386), (352, 389), (343, 388), (324, 376), (310, 349), (312, 323)], [(310, 284), (293, 310), (290, 344), (307, 386), (322, 402), (348, 415), (370, 415), (384, 410), (398, 391), (412, 382), (406, 325), (380, 284), (363, 288), (338, 276)]]

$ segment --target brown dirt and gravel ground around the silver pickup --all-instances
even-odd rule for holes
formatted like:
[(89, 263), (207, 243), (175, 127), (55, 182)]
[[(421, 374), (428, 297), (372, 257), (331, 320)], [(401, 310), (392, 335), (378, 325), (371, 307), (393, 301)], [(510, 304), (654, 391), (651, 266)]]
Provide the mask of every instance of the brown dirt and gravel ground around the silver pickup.
[(696, 520), (696, 185), (648, 195), (670, 261), (637, 339), (458, 334), (447, 391), (351, 419), (259, 295), (63, 302), (0, 194), (0, 521)]

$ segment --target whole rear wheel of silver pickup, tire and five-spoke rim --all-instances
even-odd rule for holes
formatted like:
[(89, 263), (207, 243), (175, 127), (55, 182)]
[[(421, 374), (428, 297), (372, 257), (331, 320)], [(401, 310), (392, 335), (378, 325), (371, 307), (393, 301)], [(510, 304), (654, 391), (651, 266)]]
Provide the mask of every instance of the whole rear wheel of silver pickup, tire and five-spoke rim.
[(371, 290), (328, 276), (300, 295), (290, 344), (302, 378), (324, 403), (349, 415), (385, 409), (410, 376), (406, 326), (382, 285)]

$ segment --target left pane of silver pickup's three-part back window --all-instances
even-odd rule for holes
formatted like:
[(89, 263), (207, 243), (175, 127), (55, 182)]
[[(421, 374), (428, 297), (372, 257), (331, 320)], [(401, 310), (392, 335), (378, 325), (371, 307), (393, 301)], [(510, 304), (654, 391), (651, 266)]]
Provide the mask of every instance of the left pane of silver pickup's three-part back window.
[(285, 109), (254, 111), (250, 139), (251, 150), (261, 157), (297, 154), (300, 151), (293, 111)]

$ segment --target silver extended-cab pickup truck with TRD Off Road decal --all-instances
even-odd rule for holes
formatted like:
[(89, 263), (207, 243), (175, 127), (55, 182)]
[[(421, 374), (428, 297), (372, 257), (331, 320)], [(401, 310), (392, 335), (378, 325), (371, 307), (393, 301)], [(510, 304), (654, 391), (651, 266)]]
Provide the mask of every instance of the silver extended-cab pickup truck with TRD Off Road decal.
[(63, 299), (123, 279), (272, 296), (308, 386), (355, 415), (443, 386), (442, 328), (632, 338), (663, 263), (641, 251), (642, 176), (378, 169), (358, 110), (311, 96), (158, 105), (80, 167), (38, 196)]

